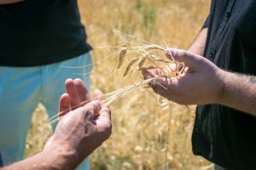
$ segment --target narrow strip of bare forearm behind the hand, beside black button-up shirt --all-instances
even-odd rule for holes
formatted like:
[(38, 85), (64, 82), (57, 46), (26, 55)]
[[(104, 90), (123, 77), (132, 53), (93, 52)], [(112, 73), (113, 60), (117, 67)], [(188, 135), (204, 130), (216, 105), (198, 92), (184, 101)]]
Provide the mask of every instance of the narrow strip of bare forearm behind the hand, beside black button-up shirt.
[(195, 41), (189, 47), (188, 51), (202, 56), (204, 54), (207, 42), (207, 32), (208, 28), (201, 29), (197, 37), (195, 37)]

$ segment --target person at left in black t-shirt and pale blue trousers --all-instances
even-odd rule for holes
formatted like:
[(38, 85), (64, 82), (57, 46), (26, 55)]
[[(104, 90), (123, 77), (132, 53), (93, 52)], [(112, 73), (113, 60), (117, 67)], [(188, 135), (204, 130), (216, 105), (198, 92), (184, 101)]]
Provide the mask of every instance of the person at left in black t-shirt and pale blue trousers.
[[(77, 0), (0, 0), (3, 165), (22, 159), (38, 103), (49, 117), (55, 116), (58, 98), (65, 92), (61, 84), (67, 78), (80, 78), (90, 89), (91, 47), (86, 39)], [(88, 168), (88, 161), (80, 166)]]

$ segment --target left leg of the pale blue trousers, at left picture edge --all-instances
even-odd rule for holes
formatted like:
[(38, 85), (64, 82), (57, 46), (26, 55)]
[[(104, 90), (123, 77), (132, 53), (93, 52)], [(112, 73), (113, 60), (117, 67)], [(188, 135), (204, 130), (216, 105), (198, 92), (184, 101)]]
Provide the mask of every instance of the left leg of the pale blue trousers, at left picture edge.
[(40, 67), (0, 67), (0, 150), (4, 165), (23, 158), (40, 85)]

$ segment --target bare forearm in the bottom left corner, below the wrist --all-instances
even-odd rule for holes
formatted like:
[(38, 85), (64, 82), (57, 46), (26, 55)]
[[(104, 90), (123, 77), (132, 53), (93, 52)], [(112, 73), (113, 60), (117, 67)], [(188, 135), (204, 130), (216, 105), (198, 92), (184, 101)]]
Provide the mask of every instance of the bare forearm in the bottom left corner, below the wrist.
[[(14, 169), (75, 169), (79, 165), (80, 159), (75, 152), (60, 147), (55, 147), (49, 150), (44, 150), (35, 156), (29, 157), (26, 160), (16, 162), (3, 170)], [(2, 170), (2, 169), (1, 169)]]

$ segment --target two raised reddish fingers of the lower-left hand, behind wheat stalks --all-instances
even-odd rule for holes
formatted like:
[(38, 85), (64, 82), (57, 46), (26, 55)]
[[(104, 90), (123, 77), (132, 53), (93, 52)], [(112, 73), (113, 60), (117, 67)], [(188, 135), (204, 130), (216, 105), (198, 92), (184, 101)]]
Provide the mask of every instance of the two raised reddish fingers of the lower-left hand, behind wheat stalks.
[(90, 94), (80, 79), (67, 79), (65, 82), (67, 94), (71, 99), (71, 106), (79, 105), (82, 101), (90, 99)]

